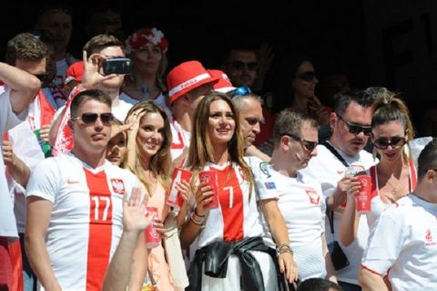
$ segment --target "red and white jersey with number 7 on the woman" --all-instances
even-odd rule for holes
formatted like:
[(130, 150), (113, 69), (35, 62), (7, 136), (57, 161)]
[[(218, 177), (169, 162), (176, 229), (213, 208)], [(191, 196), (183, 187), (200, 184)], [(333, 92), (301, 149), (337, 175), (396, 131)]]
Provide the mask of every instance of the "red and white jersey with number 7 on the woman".
[(208, 163), (204, 170), (218, 172), (219, 207), (208, 211), (205, 228), (192, 244), (192, 255), (196, 249), (213, 242), (238, 242), (261, 236), (255, 187), (250, 193), (241, 168), (236, 163), (222, 166)]

